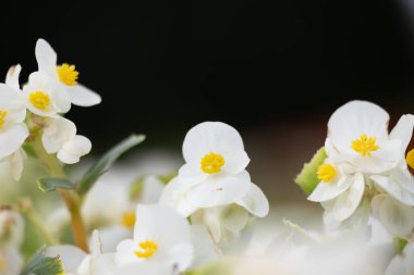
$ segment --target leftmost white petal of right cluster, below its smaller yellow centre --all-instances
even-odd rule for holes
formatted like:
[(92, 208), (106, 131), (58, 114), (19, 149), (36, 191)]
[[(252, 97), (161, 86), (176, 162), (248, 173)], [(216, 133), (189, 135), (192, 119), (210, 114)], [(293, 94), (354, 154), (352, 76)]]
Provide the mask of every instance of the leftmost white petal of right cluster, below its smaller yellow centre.
[(333, 198), (337, 198), (340, 196), (342, 192), (348, 190), (350, 186), (353, 184), (354, 178), (353, 177), (346, 177), (342, 176), (337, 183), (322, 183), (320, 182), (315, 190), (310, 193), (307, 199), (309, 201), (328, 201)]

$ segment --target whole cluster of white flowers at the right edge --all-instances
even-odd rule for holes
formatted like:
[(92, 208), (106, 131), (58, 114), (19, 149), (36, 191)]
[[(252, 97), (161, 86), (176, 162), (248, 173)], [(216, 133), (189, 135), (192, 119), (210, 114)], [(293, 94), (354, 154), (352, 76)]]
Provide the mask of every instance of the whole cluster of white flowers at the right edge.
[(320, 183), (308, 197), (325, 209), (324, 222), (366, 226), (372, 212), (393, 236), (414, 228), (414, 151), (407, 152), (414, 116), (403, 115), (388, 133), (389, 115), (380, 107), (351, 101), (328, 123), (327, 159), (318, 167)]

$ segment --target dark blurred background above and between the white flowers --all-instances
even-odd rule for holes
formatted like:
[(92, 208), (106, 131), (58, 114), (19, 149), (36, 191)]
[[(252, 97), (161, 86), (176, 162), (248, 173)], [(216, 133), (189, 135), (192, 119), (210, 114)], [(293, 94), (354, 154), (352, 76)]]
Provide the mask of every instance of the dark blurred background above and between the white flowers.
[[(414, 112), (410, 0), (11, 1), (0, 72), (36, 70), (47, 39), (102, 96), (69, 117), (98, 155), (131, 133), (182, 162), (185, 133), (222, 121), (243, 135), (253, 180), (275, 203), (306, 203), (293, 178), (352, 99)], [(310, 204), (309, 204), (310, 207)], [(318, 208), (318, 205), (313, 205)]]

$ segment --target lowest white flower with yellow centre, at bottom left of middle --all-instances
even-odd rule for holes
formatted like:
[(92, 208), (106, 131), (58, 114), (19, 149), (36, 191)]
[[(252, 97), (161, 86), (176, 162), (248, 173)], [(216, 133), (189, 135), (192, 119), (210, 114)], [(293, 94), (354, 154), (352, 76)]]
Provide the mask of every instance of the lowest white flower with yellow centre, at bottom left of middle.
[(168, 266), (172, 273), (185, 271), (194, 259), (191, 227), (185, 217), (162, 205), (139, 204), (134, 239), (119, 243), (115, 263), (134, 265), (136, 272), (158, 274)]

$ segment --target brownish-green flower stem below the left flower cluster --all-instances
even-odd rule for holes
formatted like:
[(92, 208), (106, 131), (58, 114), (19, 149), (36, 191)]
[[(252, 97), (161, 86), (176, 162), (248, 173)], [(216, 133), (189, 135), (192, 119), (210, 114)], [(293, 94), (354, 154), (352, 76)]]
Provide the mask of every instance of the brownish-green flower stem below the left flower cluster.
[[(46, 152), (45, 148), (41, 145), (40, 138), (36, 138), (34, 140), (33, 149), (35, 150), (41, 163), (48, 167), (51, 176), (59, 178), (68, 178), (57, 157), (54, 154), (48, 154)], [(74, 191), (61, 188), (58, 190), (71, 214), (71, 225), (74, 242), (77, 247), (87, 252), (88, 245), (85, 225), (81, 215), (80, 198)]]

